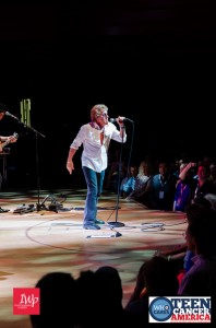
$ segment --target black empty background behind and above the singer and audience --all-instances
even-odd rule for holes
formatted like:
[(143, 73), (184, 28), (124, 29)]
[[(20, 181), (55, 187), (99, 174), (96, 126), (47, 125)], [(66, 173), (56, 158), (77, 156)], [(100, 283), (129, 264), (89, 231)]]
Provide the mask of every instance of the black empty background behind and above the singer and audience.
[[(19, 132), (4, 186), (71, 186), (71, 141), (98, 103), (129, 117), (125, 161), (145, 155), (215, 156), (214, 1), (133, 0), (0, 4), (0, 102), (20, 118), (31, 98), (32, 127)], [(111, 150), (117, 147), (111, 144)], [(38, 165), (37, 165), (38, 164)], [(37, 172), (37, 168), (39, 172)]]

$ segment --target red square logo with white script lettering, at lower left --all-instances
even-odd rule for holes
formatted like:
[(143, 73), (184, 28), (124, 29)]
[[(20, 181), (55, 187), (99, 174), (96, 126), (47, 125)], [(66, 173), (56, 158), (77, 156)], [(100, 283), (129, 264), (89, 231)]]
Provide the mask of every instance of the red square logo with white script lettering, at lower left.
[(39, 315), (39, 289), (13, 289), (14, 315)]

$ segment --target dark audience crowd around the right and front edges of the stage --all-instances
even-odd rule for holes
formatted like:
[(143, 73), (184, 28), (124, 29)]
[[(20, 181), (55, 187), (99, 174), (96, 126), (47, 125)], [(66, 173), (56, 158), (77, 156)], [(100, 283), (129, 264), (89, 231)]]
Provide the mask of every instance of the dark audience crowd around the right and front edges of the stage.
[[(40, 314), (31, 316), (32, 327), (146, 327), (148, 297), (177, 295), (211, 296), (215, 323), (216, 165), (204, 160), (178, 161), (175, 165), (160, 160), (155, 166), (144, 160), (131, 165), (139, 169), (130, 169), (130, 177), (124, 176), (125, 184), (133, 177), (133, 184), (128, 184), (133, 190), (121, 197), (149, 209), (181, 211), (187, 218), (185, 243), (166, 253), (157, 251), (142, 263), (125, 306), (121, 277), (115, 267), (81, 271), (77, 279), (72, 272), (48, 272), (36, 283)], [(112, 192), (117, 192), (113, 186)]]

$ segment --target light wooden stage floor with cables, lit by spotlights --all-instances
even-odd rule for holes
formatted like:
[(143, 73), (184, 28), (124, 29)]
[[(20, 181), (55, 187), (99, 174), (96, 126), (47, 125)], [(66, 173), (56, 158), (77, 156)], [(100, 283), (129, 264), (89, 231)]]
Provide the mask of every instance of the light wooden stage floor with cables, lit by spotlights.
[[(106, 191), (98, 203), (98, 219), (106, 224), (99, 231), (83, 230), (85, 192), (1, 191), (0, 206), (10, 210), (0, 213), (1, 328), (31, 328), (28, 316), (13, 315), (13, 288), (33, 288), (51, 271), (77, 278), (106, 265), (119, 270), (124, 305), (143, 261), (184, 243), (184, 214), (148, 210)], [(14, 213), (31, 206), (31, 212)]]

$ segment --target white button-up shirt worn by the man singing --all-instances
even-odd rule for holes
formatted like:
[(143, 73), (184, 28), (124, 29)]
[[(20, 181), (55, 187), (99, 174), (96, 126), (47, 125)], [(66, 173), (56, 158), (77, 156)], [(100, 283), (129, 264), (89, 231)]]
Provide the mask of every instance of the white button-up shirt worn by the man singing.
[[(104, 140), (101, 144), (100, 134), (103, 132)], [(118, 142), (125, 142), (125, 131), (122, 138), (120, 131), (112, 122), (108, 122), (101, 130), (97, 130), (93, 128), (91, 124), (86, 124), (81, 127), (70, 148), (77, 150), (81, 144), (83, 144), (83, 153), (81, 156), (82, 166), (89, 167), (95, 172), (100, 173), (107, 168), (107, 153), (111, 139)]]

